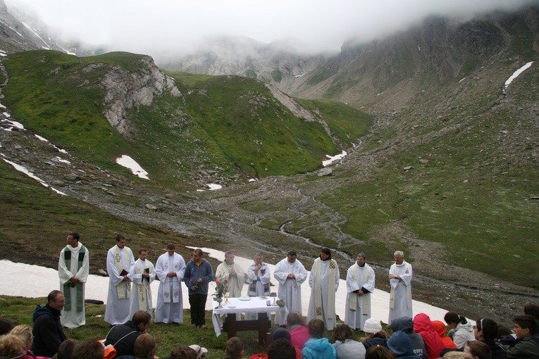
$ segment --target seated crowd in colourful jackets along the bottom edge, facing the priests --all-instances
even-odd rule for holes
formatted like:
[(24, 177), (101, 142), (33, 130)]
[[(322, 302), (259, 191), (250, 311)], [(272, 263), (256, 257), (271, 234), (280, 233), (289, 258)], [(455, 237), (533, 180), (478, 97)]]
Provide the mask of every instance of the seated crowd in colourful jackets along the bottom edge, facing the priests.
[[(333, 330), (328, 340), (325, 324), (313, 319), (304, 322), (300, 313), (291, 312), (286, 328), (273, 329), (266, 353), (256, 353), (249, 359), (539, 359), (539, 306), (525, 306), (524, 314), (512, 318), (512, 329), (483, 317), (475, 321), (448, 312), (445, 322), (430, 320), (425, 313), (392, 320), (388, 335), (380, 320), (366, 320), (361, 338), (345, 324)], [(96, 340), (67, 339), (52, 357), (32, 353), (35, 332), (27, 325), (14, 325), (0, 318), (0, 359), (159, 359), (155, 356), (156, 341), (145, 333), (147, 318), (133, 318), (136, 338), (122, 355), (109, 355), (104, 344)], [(139, 323), (142, 325), (137, 325)], [(111, 330), (113, 332), (113, 330)], [(325, 335), (326, 334), (326, 335)], [(357, 336), (357, 334), (356, 334)], [(116, 339), (115, 339), (116, 341)], [(208, 353), (199, 345), (178, 346), (163, 359), (200, 359)], [(228, 339), (224, 346), (226, 359), (244, 358), (241, 338)]]

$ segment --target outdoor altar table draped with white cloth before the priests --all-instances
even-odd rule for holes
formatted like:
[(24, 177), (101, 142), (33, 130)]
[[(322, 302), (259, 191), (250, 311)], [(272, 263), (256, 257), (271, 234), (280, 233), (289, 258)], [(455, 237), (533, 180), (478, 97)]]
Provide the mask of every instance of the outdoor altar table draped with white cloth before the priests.
[[(212, 298), (213, 313), (211, 320), (216, 336), (221, 335), (221, 325), (228, 334), (228, 339), (236, 336), (237, 332), (244, 330), (257, 330), (259, 332), (259, 344), (264, 345), (266, 333), (271, 328), (271, 320), (268, 313), (275, 313), (275, 325), (286, 325), (288, 309), (286, 306), (280, 307), (276, 297), (242, 297), (228, 298), (229, 304), (223, 303), (223, 308), (217, 308), (218, 302)], [(256, 320), (236, 320), (237, 313), (258, 313)], [(226, 315), (223, 323), (221, 315)]]

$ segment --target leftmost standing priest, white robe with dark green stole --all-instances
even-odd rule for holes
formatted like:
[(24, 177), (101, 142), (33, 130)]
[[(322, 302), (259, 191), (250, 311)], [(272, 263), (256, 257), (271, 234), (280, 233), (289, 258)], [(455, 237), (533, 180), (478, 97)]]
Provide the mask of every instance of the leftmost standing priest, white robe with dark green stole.
[(85, 284), (89, 273), (89, 252), (79, 242), (76, 232), (68, 235), (68, 245), (60, 252), (58, 277), (60, 290), (66, 297), (60, 322), (70, 329), (86, 324)]

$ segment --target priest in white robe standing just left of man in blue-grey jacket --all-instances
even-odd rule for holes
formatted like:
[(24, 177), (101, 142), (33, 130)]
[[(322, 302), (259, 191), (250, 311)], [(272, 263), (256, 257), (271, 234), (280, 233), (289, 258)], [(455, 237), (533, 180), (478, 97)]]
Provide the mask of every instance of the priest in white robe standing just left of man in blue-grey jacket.
[(185, 273), (185, 260), (175, 253), (175, 245), (168, 244), (166, 253), (161, 254), (155, 265), (159, 280), (156, 323), (183, 323), (182, 280)]

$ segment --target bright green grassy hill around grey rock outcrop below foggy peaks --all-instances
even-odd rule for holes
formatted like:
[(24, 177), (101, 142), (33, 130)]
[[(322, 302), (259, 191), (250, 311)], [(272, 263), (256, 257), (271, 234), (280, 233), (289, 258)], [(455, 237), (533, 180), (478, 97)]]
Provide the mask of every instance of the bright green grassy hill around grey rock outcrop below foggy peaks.
[(142, 59), (132, 53), (15, 53), (4, 62), (9, 82), (3, 102), (25, 127), (106, 170), (124, 171), (114, 159), (127, 154), (152, 180), (187, 188), (196, 185), (192, 179), (200, 170), (240, 181), (315, 170), (326, 154), (352, 146), (372, 122), (342, 104), (311, 102), (334, 129), (334, 143), (318, 122), (297, 118), (261, 82), (169, 73), (182, 96), (165, 92), (151, 106), (132, 108), (130, 134), (123, 137), (104, 117), (102, 81), (115, 67), (136, 74)]

